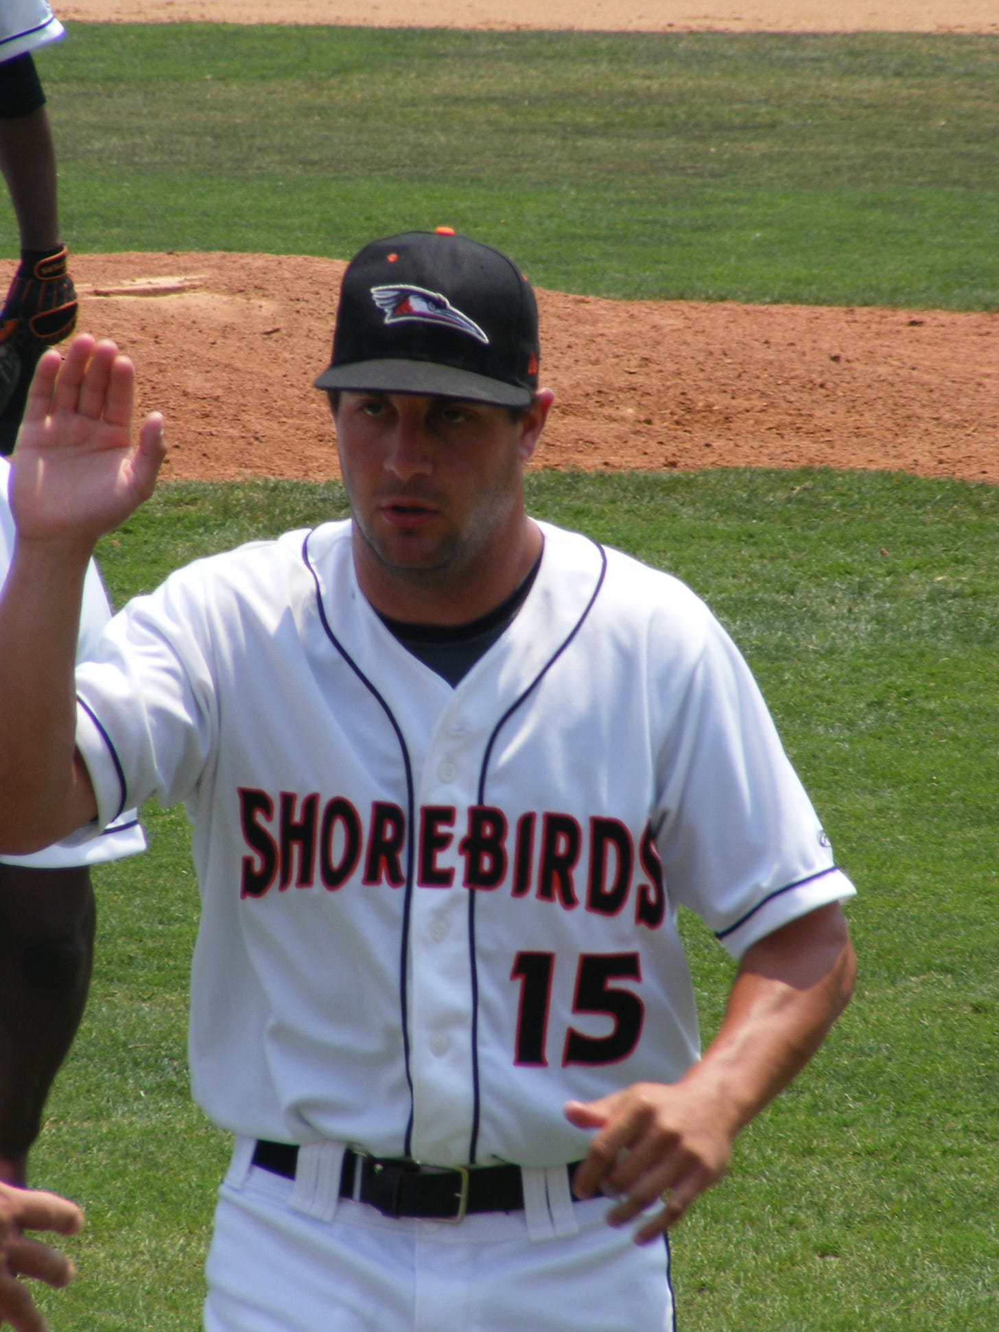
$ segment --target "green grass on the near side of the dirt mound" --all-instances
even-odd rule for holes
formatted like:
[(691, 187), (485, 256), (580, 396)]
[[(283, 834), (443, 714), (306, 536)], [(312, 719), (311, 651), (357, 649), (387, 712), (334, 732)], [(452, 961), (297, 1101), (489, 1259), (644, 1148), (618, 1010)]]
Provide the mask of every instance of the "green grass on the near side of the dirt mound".
[[(534, 473), (539, 517), (669, 569), (743, 647), (860, 896), (856, 999), (673, 1241), (698, 1332), (999, 1325), (999, 489), (906, 476)], [(161, 490), (101, 546), (112, 598), (345, 511), (294, 482)], [(180, 811), (99, 876), (97, 978), (36, 1158), (89, 1207), (60, 1332), (189, 1332), (221, 1135), (186, 1103), (197, 914)], [(683, 918), (706, 1034), (731, 964)]]

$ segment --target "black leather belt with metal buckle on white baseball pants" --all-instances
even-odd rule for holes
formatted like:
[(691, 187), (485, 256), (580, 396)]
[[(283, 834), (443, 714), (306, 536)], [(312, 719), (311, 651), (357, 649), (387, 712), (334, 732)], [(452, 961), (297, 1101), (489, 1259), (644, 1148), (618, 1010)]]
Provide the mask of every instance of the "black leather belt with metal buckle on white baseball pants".
[[(253, 1164), (294, 1179), (298, 1148), (257, 1142)], [(569, 1179), (575, 1169), (566, 1166)], [(519, 1166), (420, 1166), (417, 1162), (366, 1156), (348, 1147), (340, 1196), (368, 1203), (382, 1216), (460, 1221), (473, 1212), (517, 1212), (523, 1207)]]

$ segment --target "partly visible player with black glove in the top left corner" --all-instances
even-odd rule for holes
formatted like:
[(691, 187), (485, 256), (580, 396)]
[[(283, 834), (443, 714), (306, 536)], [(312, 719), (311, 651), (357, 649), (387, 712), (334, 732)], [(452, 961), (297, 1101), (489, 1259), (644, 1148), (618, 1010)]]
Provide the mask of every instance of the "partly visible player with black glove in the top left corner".
[(63, 36), (45, 0), (0, 4), (0, 170), (21, 244), (21, 260), (0, 309), (3, 454), (13, 449), (39, 357), (76, 324), (76, 290), (59, 234), (56, 152), (32, 56)]

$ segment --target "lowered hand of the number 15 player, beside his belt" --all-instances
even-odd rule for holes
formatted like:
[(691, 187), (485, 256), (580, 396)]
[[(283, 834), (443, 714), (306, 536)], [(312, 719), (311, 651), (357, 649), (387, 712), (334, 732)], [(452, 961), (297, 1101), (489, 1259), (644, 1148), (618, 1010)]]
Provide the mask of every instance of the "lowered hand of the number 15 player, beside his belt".
[(735, 1128), (682, 1082), (635, 1083), (599, 1100), (570, 1100), (566, 1119), (597, 1130), (573, 1192), (617, 1199), (610, 1225), (625, 1225), (647, 1208), (659, 1209), (635, 1231), (647, 1244), (681, 1219), (694, 1199), (725, 1173)]

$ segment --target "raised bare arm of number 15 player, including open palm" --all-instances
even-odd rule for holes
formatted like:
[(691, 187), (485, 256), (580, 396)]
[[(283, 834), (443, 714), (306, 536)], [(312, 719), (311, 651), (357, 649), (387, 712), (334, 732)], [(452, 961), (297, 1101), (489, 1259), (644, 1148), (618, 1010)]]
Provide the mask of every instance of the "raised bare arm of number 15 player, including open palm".
[(57, 842), (96, 803), (75, 749), (73, 667), (97, 539), (147, 500), (165, 454), (151, 414), (132, 444), (135, 374), (84, 334), (39, 361), (11, 472), (15, 553), (0, 595), (0, 851)]

